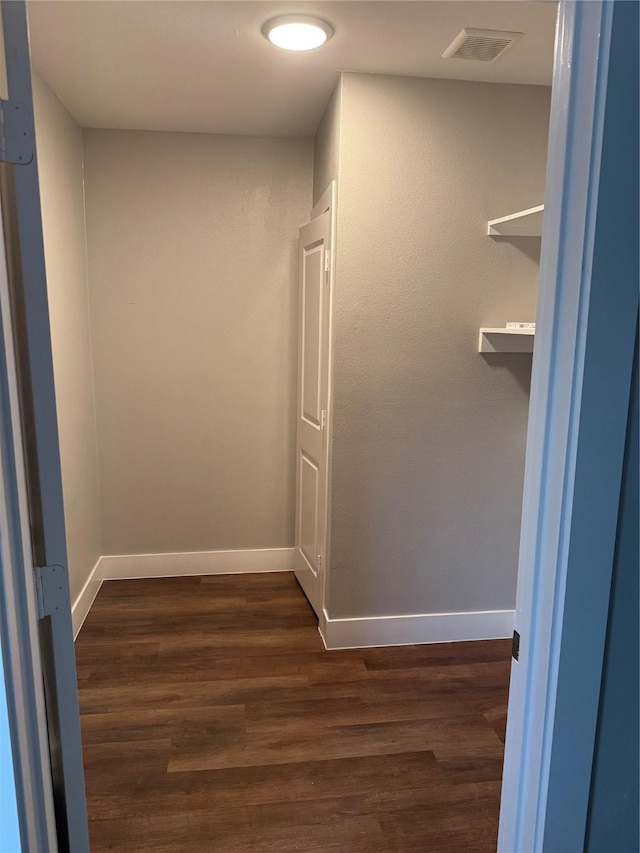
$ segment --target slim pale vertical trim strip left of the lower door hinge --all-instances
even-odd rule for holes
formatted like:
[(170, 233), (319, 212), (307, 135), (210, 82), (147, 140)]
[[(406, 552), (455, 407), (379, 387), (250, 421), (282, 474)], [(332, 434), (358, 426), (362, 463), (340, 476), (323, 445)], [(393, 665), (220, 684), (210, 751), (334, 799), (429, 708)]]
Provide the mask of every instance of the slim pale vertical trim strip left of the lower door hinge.
[(0, 210), (0, 630), (23, 850), (58, 850)]

